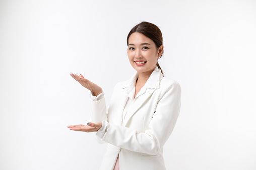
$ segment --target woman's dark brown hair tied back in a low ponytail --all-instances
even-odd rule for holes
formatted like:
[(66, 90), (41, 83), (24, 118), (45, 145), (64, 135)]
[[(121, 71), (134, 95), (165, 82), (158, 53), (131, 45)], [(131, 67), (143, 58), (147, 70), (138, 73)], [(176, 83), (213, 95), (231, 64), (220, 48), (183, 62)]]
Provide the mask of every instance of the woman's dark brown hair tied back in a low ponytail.
[[(163, 36), (161, 30), (154, 24), (149, 22), (141, 22), (140, 24), (136, 25), (128, 34), (127, 36), (127, 46), (129, 46), (129, 37), (133, 33), (141, 33), (144, 36), (150, 38), (156, 45), (156, 48), (158, 49), (161, 45), (163, 45)], [(163, 55), (163, 53), (162, 53)], [(162, 55), (159, 57), (161, 58)], [(163, 71), (161, 67), (159, 66), (158, 62), (156, 63), (157, 67), (161, 70), (162, 74)]]

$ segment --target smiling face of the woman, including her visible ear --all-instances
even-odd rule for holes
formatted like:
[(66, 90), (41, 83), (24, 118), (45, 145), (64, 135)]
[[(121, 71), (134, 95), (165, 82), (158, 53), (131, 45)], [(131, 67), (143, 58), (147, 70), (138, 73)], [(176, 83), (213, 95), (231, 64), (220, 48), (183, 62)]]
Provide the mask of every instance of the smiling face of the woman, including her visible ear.
[(158, 57), (161, 56), (163, 46), (156, 48), (150, 38), (141, 33), (133, 33), (129, 37), (127, 55), (133, 68), (138, 73), (149, 73), (156, 68)]

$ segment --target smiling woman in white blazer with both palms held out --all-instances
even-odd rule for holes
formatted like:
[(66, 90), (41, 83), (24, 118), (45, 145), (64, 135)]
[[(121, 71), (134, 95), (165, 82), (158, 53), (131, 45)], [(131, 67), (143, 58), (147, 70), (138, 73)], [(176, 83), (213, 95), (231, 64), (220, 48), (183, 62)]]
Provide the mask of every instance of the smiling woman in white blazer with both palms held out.
[(108, 111), (102, 89), (82, 75), (71, 74), (91, 91), (94, 123), (68, 127), (97, 131), (97, 141), (108, 143), (100, 169), (166, 169), (163, 145), (178, 118), (181, 89), (162, 74), (157, 62), (162, 44), (162, 33), (154, 24), (142, 22), (130, 31), (127, 55), (137, 73), (114, 87)]

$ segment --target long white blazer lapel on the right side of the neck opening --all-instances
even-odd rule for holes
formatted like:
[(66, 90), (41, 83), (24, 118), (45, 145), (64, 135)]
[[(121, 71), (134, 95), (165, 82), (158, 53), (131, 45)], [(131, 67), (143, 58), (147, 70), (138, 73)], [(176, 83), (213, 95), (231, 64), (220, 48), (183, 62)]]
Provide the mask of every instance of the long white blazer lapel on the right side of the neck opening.
[(131, 107), (131, 109), (127, 111), (124, 121), (122, 123), (123, 126), (127, 124), (127, 122), (131, 119), (131, 117), (145, 103), (145, 101), (152, 95), (152, 93), (155, 90), (156, 88), (146, 89), (146, 92), (138, 97), (138, 99), (133, 103), (133, 106)]

